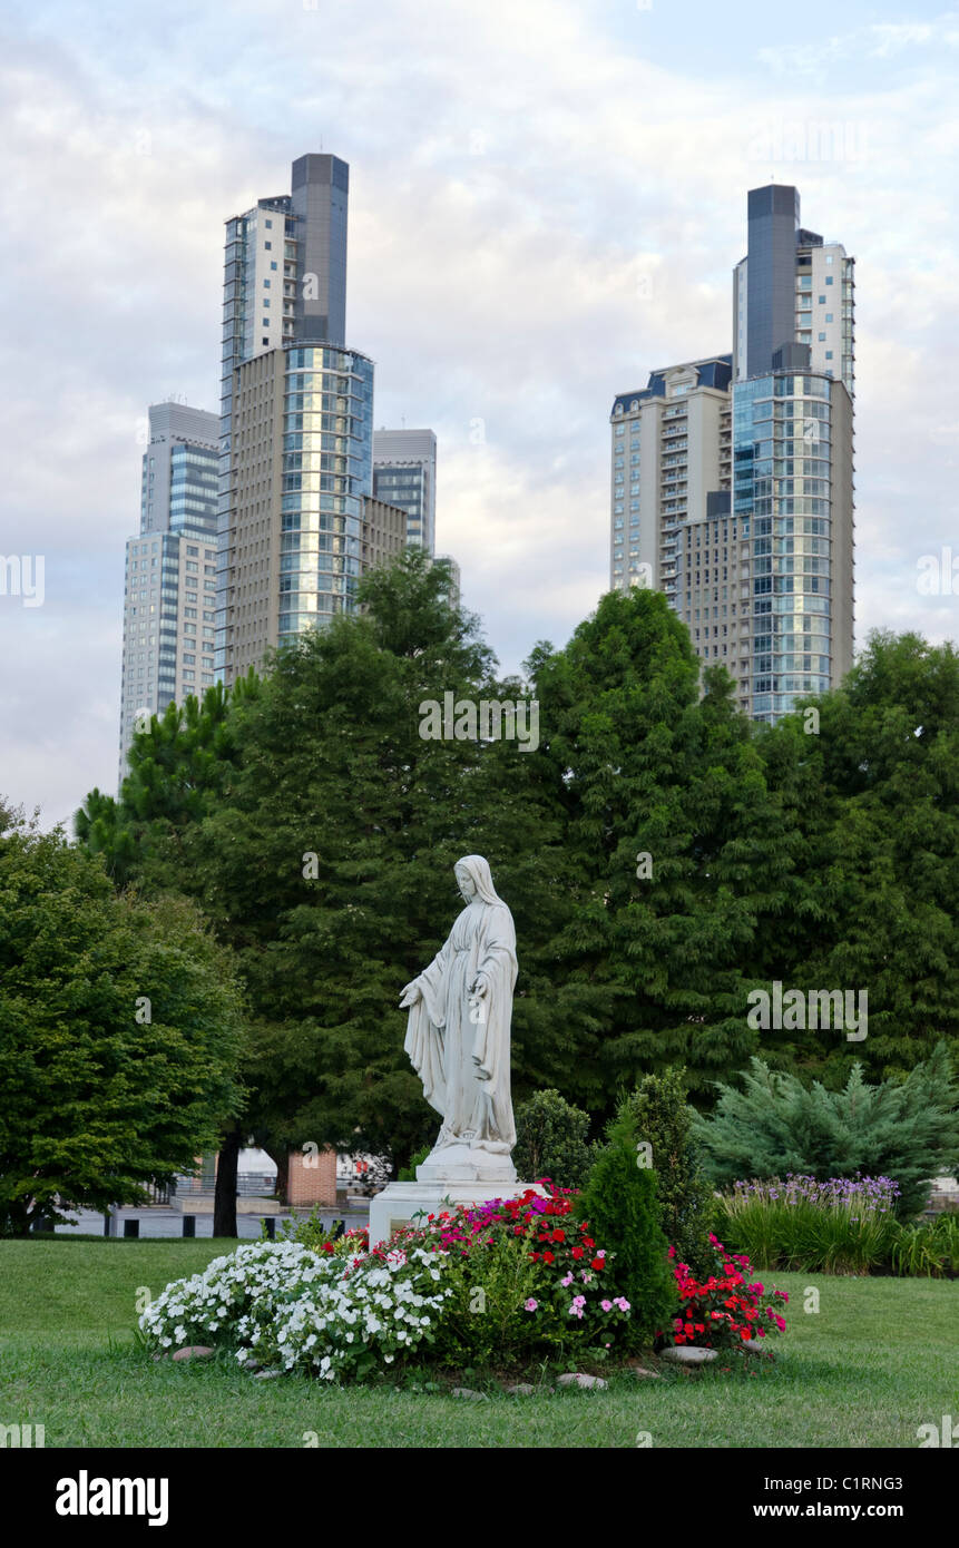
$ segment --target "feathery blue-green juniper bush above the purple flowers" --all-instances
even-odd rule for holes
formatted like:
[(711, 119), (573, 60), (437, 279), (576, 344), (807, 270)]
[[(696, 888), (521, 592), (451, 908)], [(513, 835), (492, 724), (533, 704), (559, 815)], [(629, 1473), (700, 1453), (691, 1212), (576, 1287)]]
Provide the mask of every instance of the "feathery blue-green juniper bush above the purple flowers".
[(854, 1065), (841, 1091), (770, 1070), (753, 1059), (744, 1088), (720, 1087), (710, 1118), (694, 1135), (713, 1181), (773, 1178), (787, 1172), (818, 1181), (888, 1176), (899, 1184), (897, 1211), (917, 1214), (930, 1181), (959, 1166), (959, 1087), (950, 1050), (939, 1043), (903, 1081), (868, 1085)]

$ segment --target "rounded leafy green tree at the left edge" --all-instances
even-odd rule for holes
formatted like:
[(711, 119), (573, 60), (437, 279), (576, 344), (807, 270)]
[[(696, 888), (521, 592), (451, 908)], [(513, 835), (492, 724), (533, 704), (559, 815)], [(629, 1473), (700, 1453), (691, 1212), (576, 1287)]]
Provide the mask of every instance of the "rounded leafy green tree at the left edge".
[(240, 994), (186, 899), (118, 896), (102, 861), (0, 831), (0, 1229), (139, 1201), (242, 1101)]

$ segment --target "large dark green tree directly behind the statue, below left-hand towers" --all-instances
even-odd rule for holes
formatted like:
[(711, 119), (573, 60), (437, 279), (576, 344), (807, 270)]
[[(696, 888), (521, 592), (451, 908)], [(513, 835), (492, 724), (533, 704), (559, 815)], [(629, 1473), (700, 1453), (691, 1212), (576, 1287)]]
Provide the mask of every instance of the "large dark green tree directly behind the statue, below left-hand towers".
[[(570, 907), (558, 796), (516, 741), (421, 735), (425, 701), (522, 687), (497, 681), (477, 621), (446, 591), (443, 567), (409, 551), (364, 580), (359, 615), (279, 650), (257, 692), (226, 706), (228, 769), (205, 772), (194, 817), (178, 772), (192, 768), (189, 726), (170, 718), (143, 780), (143, 884), (194, 896), (237, 954), (248, 1121), (277, 1159), (313, 1141), (403, 1163), (435, 1136), (397, 1000), (462, 906), (452, 867), (465, 853), (486, 854), (524, 941), (517, 1091), (573, 1060), (533, 944)], [(124, 800), (136, 805), (127, 786)]]

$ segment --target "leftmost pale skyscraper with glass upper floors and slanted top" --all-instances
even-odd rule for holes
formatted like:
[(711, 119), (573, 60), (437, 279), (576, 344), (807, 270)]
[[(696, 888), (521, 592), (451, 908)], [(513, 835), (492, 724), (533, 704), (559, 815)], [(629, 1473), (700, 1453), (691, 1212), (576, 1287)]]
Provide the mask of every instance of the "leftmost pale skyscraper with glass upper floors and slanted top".
[(147, 426), (139, 533), (127, 540), (121, 780), (138, 711), (163, 714), (214, 681), (220, 421), (161, 402), (150, 407)]

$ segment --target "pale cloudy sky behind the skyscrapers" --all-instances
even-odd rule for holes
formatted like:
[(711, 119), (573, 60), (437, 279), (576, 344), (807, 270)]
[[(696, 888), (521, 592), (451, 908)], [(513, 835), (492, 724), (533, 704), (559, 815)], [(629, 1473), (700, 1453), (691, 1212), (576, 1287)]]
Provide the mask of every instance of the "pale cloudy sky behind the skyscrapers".
[[(801, 23), (801, 25), (799, 25)], [(959, 636), (959, 11), (878, 0), (8, 0), (0, 791), (113, 789), (141, 421), (218, 406), (223, 220), (350, 163), (347, 342), (438, 437), (504, 667), (607, 584), (609, 409), (731, 347), (747, 189), (857, 259), (857, 636)], [(821, 125), (829, 125), (827, 135)], [(959, 568), (959, 567), (957, 567)]]

